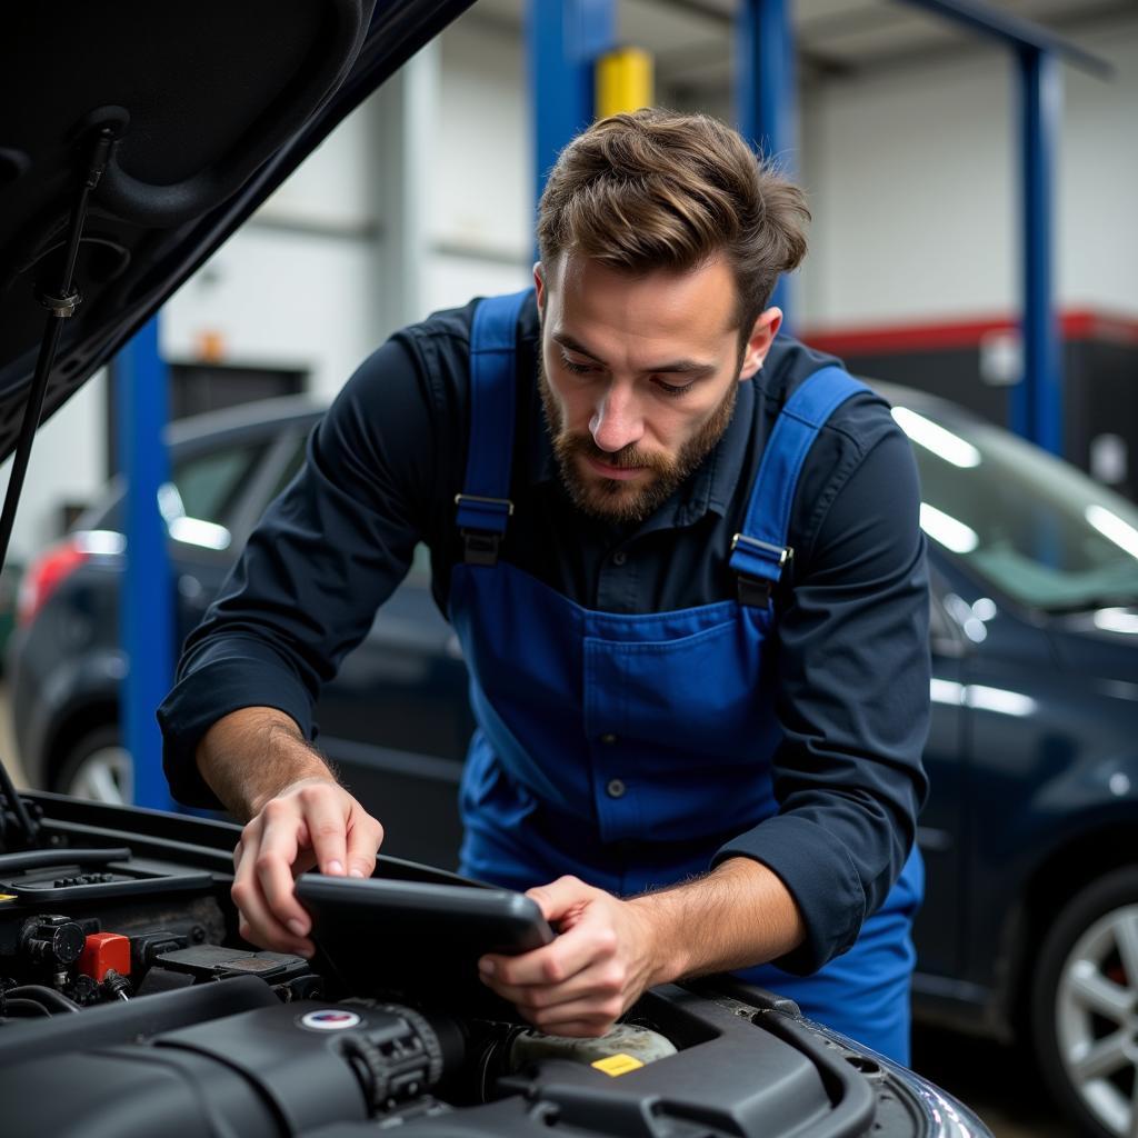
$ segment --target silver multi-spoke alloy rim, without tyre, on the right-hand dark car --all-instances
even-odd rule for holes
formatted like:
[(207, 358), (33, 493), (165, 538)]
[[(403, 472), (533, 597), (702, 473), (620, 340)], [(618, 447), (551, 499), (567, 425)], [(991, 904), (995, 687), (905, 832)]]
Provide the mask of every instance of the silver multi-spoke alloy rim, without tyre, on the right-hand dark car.
[(1087, 1110), (1138, 1138), (1138, 905), (1112, 909), (1075, 941), (1055, 999), (1059, 1059)]

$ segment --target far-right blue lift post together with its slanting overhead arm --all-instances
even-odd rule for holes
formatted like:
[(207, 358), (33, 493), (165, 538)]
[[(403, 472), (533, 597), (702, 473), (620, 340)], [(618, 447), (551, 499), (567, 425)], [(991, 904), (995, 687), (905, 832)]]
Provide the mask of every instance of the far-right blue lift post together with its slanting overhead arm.
[(1020, 88), (1022, 193), (1023, 382), (1012, 395), (1012, 428), (1063, 454), (1063, 363), (1053, 275), (1053, 201), (1059, 135), (1058, 60), (1100, 77), (1110, 64), (1017, 16), (980, 0), (908, 0), (984, 35), (1015, 52)]

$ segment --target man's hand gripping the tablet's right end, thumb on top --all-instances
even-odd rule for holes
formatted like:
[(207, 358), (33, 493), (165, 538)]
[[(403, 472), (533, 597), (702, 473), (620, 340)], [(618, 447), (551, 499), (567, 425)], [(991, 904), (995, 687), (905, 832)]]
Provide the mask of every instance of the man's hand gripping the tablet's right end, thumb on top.
[(561, 934), (522, 956), (484, 956), (483, 981), (553, 1036), (603, 1036), (655, 978), (652, 922), (576, 877), (530, 889)]

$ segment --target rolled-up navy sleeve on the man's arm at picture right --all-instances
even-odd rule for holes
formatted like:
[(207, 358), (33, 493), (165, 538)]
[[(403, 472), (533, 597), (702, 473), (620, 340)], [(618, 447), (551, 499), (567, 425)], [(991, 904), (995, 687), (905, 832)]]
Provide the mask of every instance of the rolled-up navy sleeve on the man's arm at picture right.
[(927, 790), (929, 585), (907, 438), (890, 423), (868, 452), (849, 448), (813, 509), (776, 627), (780, 809), (715, 857), (754, 858), (786, 885), (807, 934), (774, 963), (798, 974), (846, 951), (882, 904)]

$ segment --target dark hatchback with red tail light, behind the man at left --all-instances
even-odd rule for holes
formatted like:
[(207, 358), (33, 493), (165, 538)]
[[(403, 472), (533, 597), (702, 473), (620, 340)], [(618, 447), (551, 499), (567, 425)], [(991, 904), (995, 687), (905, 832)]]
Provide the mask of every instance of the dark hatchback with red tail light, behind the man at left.
[[(321, 409), (263, 401), (174, 423), (160, 505), (176, 591), (175, 643), (201, 620), (265, 506), (299, 469)], [(13, 720), (33, 785), (131, 801), (121, 744), (118, 602), (125, 486), (113, 479), (72, 531), (28, 566), (9, 646)], [(321, 747), (387, 805), (387, 847), (457, 858), (454, 791), (473, 728), (457, 640), (430, 595), (426, 549), (321, 699)], [(401, 824), (402, 822), (402, 824)]]

